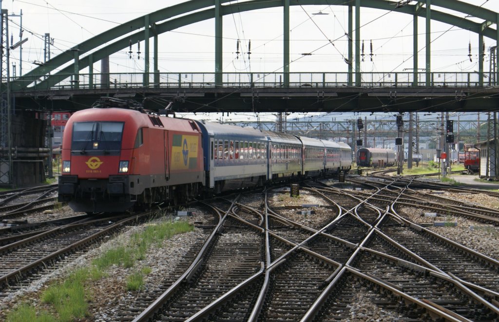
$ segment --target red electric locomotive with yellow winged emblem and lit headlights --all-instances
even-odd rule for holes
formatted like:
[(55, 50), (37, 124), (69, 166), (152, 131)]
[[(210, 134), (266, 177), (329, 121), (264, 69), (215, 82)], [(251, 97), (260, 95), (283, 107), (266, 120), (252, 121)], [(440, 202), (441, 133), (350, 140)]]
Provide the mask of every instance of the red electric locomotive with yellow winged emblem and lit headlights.
[(120, 108), (79, 111), (66, 125), (61, 154), (59, 201), (75, 211), (188, 198), (205, 180), (201, 130), (192, 120)]

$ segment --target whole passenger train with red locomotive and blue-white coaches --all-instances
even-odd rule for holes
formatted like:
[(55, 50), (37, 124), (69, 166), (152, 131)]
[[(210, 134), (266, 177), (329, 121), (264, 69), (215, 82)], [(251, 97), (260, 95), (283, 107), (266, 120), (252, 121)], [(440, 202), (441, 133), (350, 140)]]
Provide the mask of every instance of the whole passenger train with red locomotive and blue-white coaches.
[(345, 143), (123, 108), (74, 113), (61, 155), (58, 199), (83, 212), (174, 204), (352, 165)]

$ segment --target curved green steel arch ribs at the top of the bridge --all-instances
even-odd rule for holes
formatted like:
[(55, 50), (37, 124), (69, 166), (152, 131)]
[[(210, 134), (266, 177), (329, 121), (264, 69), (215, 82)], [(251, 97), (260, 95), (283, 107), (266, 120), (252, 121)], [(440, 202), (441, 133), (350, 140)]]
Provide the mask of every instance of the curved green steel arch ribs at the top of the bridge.
[[(283, 6), (282, 0), (251, 0), (246, 2), (240, 2), (236, 4), (227, 4), (222, 5), (224, 3), (230, 2), (230, 0), (217, 0), (218, 3), (221, 4), (220, 11), (222, 15), (233, 14), (234, 12), (243, 12), (249, 10), (257, 10), (262, 8), (269, 7), (279, 7)], [(425, 7), (421, 7), (421, 3), (427, 3), (427, 0), (417, 0), (416, 5), (405, 5), (400, 8), (397, 8), (397, 12), (407, 13), (407, 14), (417, 14), (421, 17), (426, 17), (427, 12)], [(499, 14), (492, 10), (488, 10), (485, 8), (481, 8), (475, 5), (471, 5), (466, 2), (457, 1), (457, 0), (431, 0), (432, 5), (452, 9), (454, 11), (459, 11), (467, 14), (473, 13), (473, 16), (484, 19), (485, 21), (489, 21), (488, 24), (477, 23), (467, 18), (462, 18), (459, 16), (455, 16), (449, 13), (444, 13), (435, 9), (431, 9), (431, 19), (436, 21), (441, 21), (444, 23), (456, 25), (463, 29), (468, 29), (473, 32), (477, 32), (483, 36), (498, 40), (499, 39), (499, 28), (492, 29), (490, 28), (490, 24), (498, 25)], [(290, 0), (289, 5), (351, 5), (351, 1), (349, 0)], [(395, 1), (386, 1), (386, 0), (362, 0), (362, 7), (370, 7), (376, 9), (383, 10), (395, 10)], [(212, 7), (214, 5), (213, 0), (191, 0), (186, 1), (177, 5), (173, 5), (161, 10), (157, 10), (155, 12), (149, 13), (142, 17), (130, 20), (126, 23), (123, 23), (120, 26), (114, 27), (108, 31), (105, 31), (95, 37), (92, 37), (77, 46), (75, 46), (72, 50), (68, 50), (64, 53), (57, 55), (56, 57), (50, 59), (45, 63), (44, 66), (39, 66), (32, 71), (26, 73), (25, 75), (19, 77), (16, 81), (12, 82), (12, 90), (22, 90), (26, 88), (33, 81), (38, 79), (41, 75), (47, 75), (49, 72), (54, 69), (67, 64), (75, 57), (79, 61), (77, 61), (76, 68), (77, 70), (84, 69), (89, 66), (90, 63), (94, 61), (98, 61), (102, 58), (105, 58), (109, 54), (115, 53), (123, 48), (126, 48), (129, 45), (130, 39), (133, 42), (143, 41), (147, 34), (142, 28), (145, 28), (145, 23), (154, 26), (155, 34), (161, 34), (167, 31), (171, 31), (173, 29), (179, 28), (181, 26), (185, 26), (188, 24), (192, 24), (195, 22), (207, 20), (216, 17), (217, 8), (209, 8), (202, 10), (207, 7)], [(193, 12), (194, 11), (194, 12)], [(193, 12), (193, 13), (189, 13)], [(189, 13), (189, 14), (186, 14)], [(179, 16), (179, 17), (176, 17)], [(165, 22), (159, 23), (165, 19), (169, 19)], [(134, 32), (135, 31), (135, 32)], [(125, 35), (133, 32), (127, 37)], [(98, 48), (105, 43), (108, 43), (116, 38), (121, 38), (110, 45), (99, 48), (99, 51), (94, 52), (90, 55), (81, 57), (82, 54), (89, 52), (91, 49)], [(78, 55), (75, 55), (74, 51), (78, 51)], [(217, 54), (216, 54), (217, 56)], [(147, 59), (146, 59), (147, 60)], [(46, 80), (39, 83), (37, 85), (38, 89), (49, 89), (51, 86), (57, 84), (63, 79), (66, 79), (68, 75), (72, 75), (75, 72), (75, 64), (70, 64), (67, 67), (63, 68), (61, 71), (53, 74), (47, 75)], [(146, 70), (146, 73), (148, 70)]]

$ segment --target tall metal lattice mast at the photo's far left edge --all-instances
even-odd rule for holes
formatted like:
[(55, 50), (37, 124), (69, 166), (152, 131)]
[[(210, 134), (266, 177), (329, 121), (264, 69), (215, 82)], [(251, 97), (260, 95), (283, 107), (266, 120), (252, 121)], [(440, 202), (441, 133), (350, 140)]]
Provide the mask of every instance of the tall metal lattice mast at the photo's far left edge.
[(8, 11), (0, 12), (1, 33), (1, 80), (0, 80), (0, 184), (12, 182), (12, 156), (10, 137), (10, 82), (9, 82), (9, 43), (8, 43)]

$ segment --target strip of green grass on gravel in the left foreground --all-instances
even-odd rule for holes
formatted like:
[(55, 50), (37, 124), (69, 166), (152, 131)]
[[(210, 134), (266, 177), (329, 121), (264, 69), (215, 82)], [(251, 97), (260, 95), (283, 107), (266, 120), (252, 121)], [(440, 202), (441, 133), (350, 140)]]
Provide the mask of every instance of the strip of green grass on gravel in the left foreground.
[[(93, 281), (105, 277), (108, 268), (132, 268), (136, 261), (145, 258), (152, 245), (161, 247), (165, 239), (193, 229), (186, 221), (151, 223), (143, 231), (132, 234), (123, 244), (95, 258), (91, 265), (72, 271), (64, 280), (52, 283), (39, 298), (45, 309), (22, 304), (7, 315), (7, 322), (65, 322), (83, 319), (88, 316), (88, 305), (92, 298), (90, 286)], [(142, 289), (144, 277), (151, 271), (149, 267), (134, 270), (127, 278), (126, 291)]]

